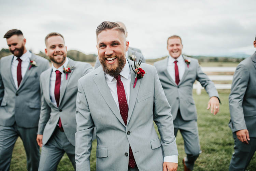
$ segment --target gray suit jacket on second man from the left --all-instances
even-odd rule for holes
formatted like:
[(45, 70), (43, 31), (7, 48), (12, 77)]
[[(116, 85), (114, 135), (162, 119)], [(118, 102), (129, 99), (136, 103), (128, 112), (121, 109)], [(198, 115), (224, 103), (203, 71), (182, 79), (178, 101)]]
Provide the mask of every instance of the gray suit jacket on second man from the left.
[(59, 117), (61, 118), (64, 132), (72, 145), (75, 145), (75, 109), (77, 81), (80, 77), (91, 72), (93, 69), (89, 63), (74, 61), (69, 58), (68, 66), (74, 67), (71, 73), (66, 75), (60, 84), (59, 107), (54, 105), (50, 99), (50, 77), (52, 68), (44, 71), (40, 76), (40, 86), (43, 93), (40, 119), (38, 124), (38, 134), (43, 134), (43, 144), (46, 144), (52, 136)]

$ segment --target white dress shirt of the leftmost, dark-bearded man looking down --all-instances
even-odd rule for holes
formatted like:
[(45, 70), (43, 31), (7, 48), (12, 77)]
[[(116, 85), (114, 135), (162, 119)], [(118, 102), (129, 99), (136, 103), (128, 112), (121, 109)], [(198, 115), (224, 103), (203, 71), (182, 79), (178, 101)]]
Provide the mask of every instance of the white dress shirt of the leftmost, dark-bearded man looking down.
[[(30, 58), (31, 58), (31, 53), (27, 51), (25, 54), (23, 54), (21, 57), (19, 57), (22, 60), (22, 79), (24, 78), (26, 71), (28, 70), (28, 66), (30, 64)], [(17, 67), (18, 67), (19, 61), (17, 60), (17, 57), (14, 56), (12, 60), (12, 65), (11, 65), (11, 71), (12, 71), (12, 77), (14, 80), (14, 84), (16, 88), (18, 89), (18, 81), (17, 81)]]

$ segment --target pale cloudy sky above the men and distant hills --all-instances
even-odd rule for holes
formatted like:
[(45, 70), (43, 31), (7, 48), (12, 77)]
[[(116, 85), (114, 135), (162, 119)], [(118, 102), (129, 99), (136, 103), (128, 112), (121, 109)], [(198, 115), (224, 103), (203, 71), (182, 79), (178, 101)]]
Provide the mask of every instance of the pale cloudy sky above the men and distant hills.
[(96, 27), (122, 21), (131, 47), (146, 59), (168, 55), (166, 41), (180, 35), (187, 55), (252, 54), (256, 34), (255, 0), (0, 0), (0, 48), (10, 29), (23, 31), (27, 49), (44, 51), (44, 38), (57, 31), (68, 50), (97, 54)]

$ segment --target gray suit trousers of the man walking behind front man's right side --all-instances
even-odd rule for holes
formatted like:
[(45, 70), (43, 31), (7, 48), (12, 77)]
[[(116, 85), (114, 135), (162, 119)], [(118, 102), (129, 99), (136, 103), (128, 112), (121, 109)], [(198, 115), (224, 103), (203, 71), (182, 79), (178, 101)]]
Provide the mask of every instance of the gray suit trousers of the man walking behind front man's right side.
[(187, 157), (185, 158), (186, 166), (190, 170), (193, 170), (195, 161), (201, 153), (197, 121), (183, 120), (180, 110), (178, 110), (177, 117), (175, 118), (175, 120), (173, 120), (173, 125), (174, 136), (176, 137), (178, 130), (180, 130), (184, 140), (185, 153), (187, 154)]

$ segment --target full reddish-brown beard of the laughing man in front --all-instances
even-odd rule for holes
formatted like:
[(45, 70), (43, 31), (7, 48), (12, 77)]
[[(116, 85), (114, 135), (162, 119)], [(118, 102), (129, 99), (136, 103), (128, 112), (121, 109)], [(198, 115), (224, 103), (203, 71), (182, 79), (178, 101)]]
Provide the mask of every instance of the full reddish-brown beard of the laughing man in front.
[(117, 60), (117, 67), (107, 66), (105, 58), (109, 56), (105, 56), (103, 59), (99, 58), (103, 71), (113, 77), (118, 76), (120, 72), (123, 70), (125, 66), (126, 59), (124, 56), (115, 56)]

